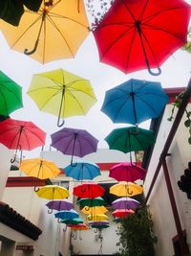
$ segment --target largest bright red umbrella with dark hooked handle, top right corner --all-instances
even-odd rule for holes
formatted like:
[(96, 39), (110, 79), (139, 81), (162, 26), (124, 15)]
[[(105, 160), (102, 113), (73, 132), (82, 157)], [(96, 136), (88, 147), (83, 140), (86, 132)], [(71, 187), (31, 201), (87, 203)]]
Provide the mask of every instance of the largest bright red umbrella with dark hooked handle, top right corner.
[(100, 61), (124, 73), (147, 68), (159, 75), (159, 66), (186, 43), (189, 18), (190, 6), (181, 0), (117, 0), (93, 32)]

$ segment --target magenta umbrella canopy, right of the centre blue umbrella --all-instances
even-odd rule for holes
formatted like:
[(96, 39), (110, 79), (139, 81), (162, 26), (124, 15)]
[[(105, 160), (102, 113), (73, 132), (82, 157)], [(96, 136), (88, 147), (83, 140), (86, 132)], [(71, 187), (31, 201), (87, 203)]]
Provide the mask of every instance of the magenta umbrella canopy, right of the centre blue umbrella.
[(110, 177), (116, 178), (117, 181), (134, 182), (138, 179), (144, 179), (146, 170), (138, 165), (131, 163), (119, 163), (110, 169)]

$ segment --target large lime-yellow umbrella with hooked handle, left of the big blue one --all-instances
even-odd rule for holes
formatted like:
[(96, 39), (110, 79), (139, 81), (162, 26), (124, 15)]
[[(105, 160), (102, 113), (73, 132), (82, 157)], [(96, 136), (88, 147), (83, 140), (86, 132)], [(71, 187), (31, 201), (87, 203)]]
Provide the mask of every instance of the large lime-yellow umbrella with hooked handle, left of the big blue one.
[(35, 74), (28, 90), (38, 108), (61, 118), (85, 115), (96, 103), (90, 81), (61, 68)]

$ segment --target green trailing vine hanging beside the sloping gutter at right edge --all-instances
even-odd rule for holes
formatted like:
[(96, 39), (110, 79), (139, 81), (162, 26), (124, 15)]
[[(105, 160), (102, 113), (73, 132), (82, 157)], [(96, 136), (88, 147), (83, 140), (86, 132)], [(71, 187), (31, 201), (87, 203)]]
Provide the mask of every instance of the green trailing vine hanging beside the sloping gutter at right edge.
[[(174, 103), (172, 103), (173, 108), (171, 111), (171, 116), (168, 118), (168, 121), (172, 121), (174, 119), (175, 108), (180, 107), (183, 94), (184, 94), (184, 91), (180, 92), (180, 94), (175, 97), (175, 101)], [(187, 109), (185, 109), (185, 115), (186, 115), (186, 120), (184, 121), (184, 126), (188, 128), (188, 131), (189, 131), (188, 143), (191, 145), (191, 111), (187, 111)]]

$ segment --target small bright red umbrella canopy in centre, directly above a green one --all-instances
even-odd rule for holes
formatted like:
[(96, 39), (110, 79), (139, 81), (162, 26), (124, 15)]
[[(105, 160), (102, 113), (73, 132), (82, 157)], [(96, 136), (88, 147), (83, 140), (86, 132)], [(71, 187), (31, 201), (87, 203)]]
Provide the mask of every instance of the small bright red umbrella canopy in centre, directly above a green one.
[(103, 196), (104, 188), (94, 182), (86, 182), (74, 187), (74, 196), (78, 198), (97, 198)]

